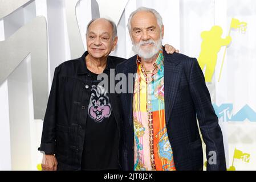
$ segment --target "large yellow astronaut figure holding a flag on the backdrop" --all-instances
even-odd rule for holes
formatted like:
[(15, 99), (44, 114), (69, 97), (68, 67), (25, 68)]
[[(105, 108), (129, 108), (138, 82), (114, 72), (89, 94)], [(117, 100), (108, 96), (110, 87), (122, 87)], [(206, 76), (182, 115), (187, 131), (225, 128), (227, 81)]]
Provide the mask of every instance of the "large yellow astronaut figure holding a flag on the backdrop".
[(201, 38), (202, 38), (201, 52), (198, 57), (198, 63), (200, 64), (200, 67), (202, 70), (204, 70), (204, 68), (206, 67), (206, 69), (205, 69), (205, 81), (206, 82), (212, 82), (213, 74), (215, 72), (215, 68), (216, 68), (216, 64), (217, 64), (218, 52), (220, 51), (222, 46), (226, 46), (224, 58), (222, 60), (220, 76), (219, 76), (219, 80), (218, 80), (218, 81), (220, 81), (222, 68), (224, 65), (224, 60), (225, 60), (225, 55), (226, 55), (226, 49), (232, 40), (230, 37), (231, 29), (239, 28), (239, 30), (242, 33), (245, 33), (246, 27), (247, 27), (246, 22), (240, 22), (238, 19), (233, 18), (231, 20), (229, 35), (225, 39), (222, 38), (223, 30), (220, 26), (213, 26), (210, 31), (202, 32), (202, 34), (201, 34)]

